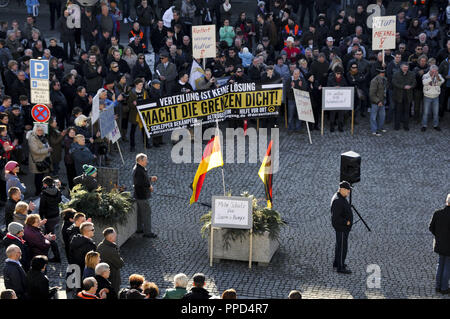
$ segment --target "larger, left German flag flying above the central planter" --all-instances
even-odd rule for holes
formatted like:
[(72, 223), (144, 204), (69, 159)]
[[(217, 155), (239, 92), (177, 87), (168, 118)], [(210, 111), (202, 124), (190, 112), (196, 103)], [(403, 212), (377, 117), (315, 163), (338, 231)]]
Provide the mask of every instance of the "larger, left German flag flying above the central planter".
[(192, 182), (192, 196), (189, 204), (198, 200), (206, 173), (219, 166), (223, 166), (223, 158), (220, 150), (220, 139), (216, 135), (208, 142), (203, 151), (202, 161), (198, 165), (197, 173), (195, 173), (194, 181)]

